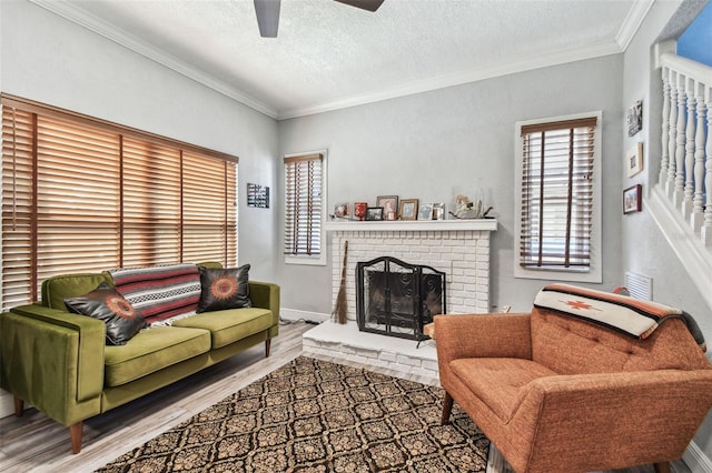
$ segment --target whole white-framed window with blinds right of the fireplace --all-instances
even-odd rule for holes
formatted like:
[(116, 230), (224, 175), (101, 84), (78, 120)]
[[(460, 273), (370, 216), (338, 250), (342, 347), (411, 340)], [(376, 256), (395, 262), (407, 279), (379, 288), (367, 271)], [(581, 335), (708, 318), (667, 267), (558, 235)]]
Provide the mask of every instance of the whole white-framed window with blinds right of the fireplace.
[(515, 275), (601, 282), (601, 113), (517, 123)]

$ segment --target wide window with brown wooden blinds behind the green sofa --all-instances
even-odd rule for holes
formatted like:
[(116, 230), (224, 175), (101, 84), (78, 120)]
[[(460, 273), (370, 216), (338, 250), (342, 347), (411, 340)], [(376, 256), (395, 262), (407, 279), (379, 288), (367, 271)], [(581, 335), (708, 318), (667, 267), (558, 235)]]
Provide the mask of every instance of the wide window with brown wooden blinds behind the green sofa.
[(2, 97), (2, 306), (68, 272), (237, 263), (237, 159)]

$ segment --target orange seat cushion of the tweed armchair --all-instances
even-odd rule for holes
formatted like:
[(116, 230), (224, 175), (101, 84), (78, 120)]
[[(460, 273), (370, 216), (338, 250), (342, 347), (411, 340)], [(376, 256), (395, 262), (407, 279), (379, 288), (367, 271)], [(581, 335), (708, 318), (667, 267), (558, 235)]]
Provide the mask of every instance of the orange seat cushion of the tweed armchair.
[(466, 358), (449, 363), (453, 373), (502, 420), (507, 422), (530, 382), (556, 372), (531, 360)]

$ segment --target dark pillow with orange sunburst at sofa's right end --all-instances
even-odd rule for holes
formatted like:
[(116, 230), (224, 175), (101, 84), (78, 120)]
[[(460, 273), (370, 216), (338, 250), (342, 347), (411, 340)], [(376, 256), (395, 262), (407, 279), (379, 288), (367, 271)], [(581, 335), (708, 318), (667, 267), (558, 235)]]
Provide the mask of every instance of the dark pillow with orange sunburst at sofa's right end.
[(196, 312), (251, 308), (249, 264), (239, 268), (200, 266), (200, 302)]

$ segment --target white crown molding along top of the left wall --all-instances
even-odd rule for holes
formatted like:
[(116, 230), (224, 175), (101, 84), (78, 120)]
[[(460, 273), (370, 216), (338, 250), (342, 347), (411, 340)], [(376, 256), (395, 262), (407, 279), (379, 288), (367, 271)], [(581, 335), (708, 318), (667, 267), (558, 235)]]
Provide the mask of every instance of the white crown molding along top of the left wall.
[(87, 13), (86, 11), (72, 6), (71, 3), (56, 0), (29, 1), (76, 24), (79, 24), (80, 27), (98, 33), (134, 52), (137, 52), (155, 62), (158, 62), (159, 64), (162, 64), (168, 69), (171, 69), (189, 79), (192, 79), (196, 82), (215, 90), (216, 92), (219, 92), (237, 102), (255, 109), (258, 112), (266, 114), (267, 117), (270, 117), (273, 119), (276, 119), (278, 117), (278, 111), (274, 107), (270, 107), (267, 103), (261, 102), (222, 81), (216, 80), (215, 78), (202, 73), (201, 71), (186, 64), (184, 61), (167, 53), (166, 51), (155, 48), (151, 44), (148, 44), (147, 42), (141, 41), (122, 30), (119, 30), (112, 24), (90, 13)]

